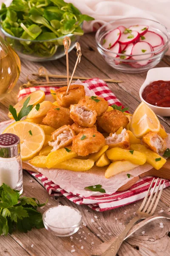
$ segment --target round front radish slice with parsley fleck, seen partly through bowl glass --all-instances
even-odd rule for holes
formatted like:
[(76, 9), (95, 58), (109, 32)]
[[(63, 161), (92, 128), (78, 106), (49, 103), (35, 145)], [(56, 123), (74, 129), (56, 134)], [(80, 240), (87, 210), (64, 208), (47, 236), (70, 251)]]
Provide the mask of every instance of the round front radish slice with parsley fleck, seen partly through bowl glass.
[[(133, 56), (134, 60), (142, 60), (142, 59), (148, 59), (153, 56), (153, 47), (147, 43), (147, 42), (138, 42), (135, 45), (133, 45), (132, 48), (132, 55), (138, 55), (138, 56)], [(151, 53), (150, 53), (151, 52)], [(146, 55), (146, 53), (148, 53)], [(140, 64), (141, 66), (145, 66), (148, 63), (148, 60), (144, 61), (137, 61), (137, 64)]]

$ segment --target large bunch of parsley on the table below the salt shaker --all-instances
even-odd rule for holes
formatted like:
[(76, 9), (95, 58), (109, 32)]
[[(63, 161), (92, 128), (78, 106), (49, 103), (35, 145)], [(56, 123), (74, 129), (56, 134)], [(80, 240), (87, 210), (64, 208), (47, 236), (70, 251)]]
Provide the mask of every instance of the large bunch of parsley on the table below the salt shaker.
[(20, 196), (17, 190), (8, 185), (0, 186), (0, 235), (7, 235), (13, 230), (27, 233), (33, 227), (43, 228), (42, 214), (37, 207), (42, 207), (36, 198)]

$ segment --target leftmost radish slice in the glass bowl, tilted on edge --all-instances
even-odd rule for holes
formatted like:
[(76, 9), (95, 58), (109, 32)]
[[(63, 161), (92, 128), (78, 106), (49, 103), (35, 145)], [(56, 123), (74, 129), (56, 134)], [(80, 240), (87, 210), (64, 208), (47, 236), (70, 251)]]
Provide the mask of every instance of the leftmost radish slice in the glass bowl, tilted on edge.
[(103, 47), (106, 49), (111, 49), (119, 40), (121, 36), (121, 32), (119, 29), (113, 29), (111, 32), (108, 33), (108, 35), (104, 38)]

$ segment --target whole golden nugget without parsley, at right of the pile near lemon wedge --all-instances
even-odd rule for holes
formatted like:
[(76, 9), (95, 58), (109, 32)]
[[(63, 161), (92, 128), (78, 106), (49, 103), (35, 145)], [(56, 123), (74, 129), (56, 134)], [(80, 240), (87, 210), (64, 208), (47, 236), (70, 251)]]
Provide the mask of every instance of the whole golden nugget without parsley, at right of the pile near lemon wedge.
[(129, 119), (121, 111), (113, 109), (97, 117), (97, 123), (104, 131), (115, 133), (121, 126), (126, 128)]

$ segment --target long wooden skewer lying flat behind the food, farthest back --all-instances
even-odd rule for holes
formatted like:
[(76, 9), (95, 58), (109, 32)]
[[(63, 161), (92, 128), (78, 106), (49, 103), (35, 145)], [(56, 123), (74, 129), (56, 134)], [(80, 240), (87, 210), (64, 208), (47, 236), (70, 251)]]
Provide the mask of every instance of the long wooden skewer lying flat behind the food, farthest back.
[[(43, 74), (38, 74), (38, 73), (33, 73), (33, 76), (38, 76), (38, 77), (45, 77), (45, 75)], [(66, 79), (67, 76), (65, 75), (52, 75), (52, 74), (48, 74), (49, 78), (59, 78), (59, 79)], [(71, 76), (69, 76), (69, 78), (71, 78)], [(89, 80), (91, 79), (91, 77), (84, 77), (84, 76), (73, 76), (73, 79), (79, 79), (79, 80)], [(105, 78), (101, 78), (103, 81), (108, 82), (108, 83), (123, 83), (123, 81), (121, 80), (115, 80), (115, 79), (105, 79)]]

